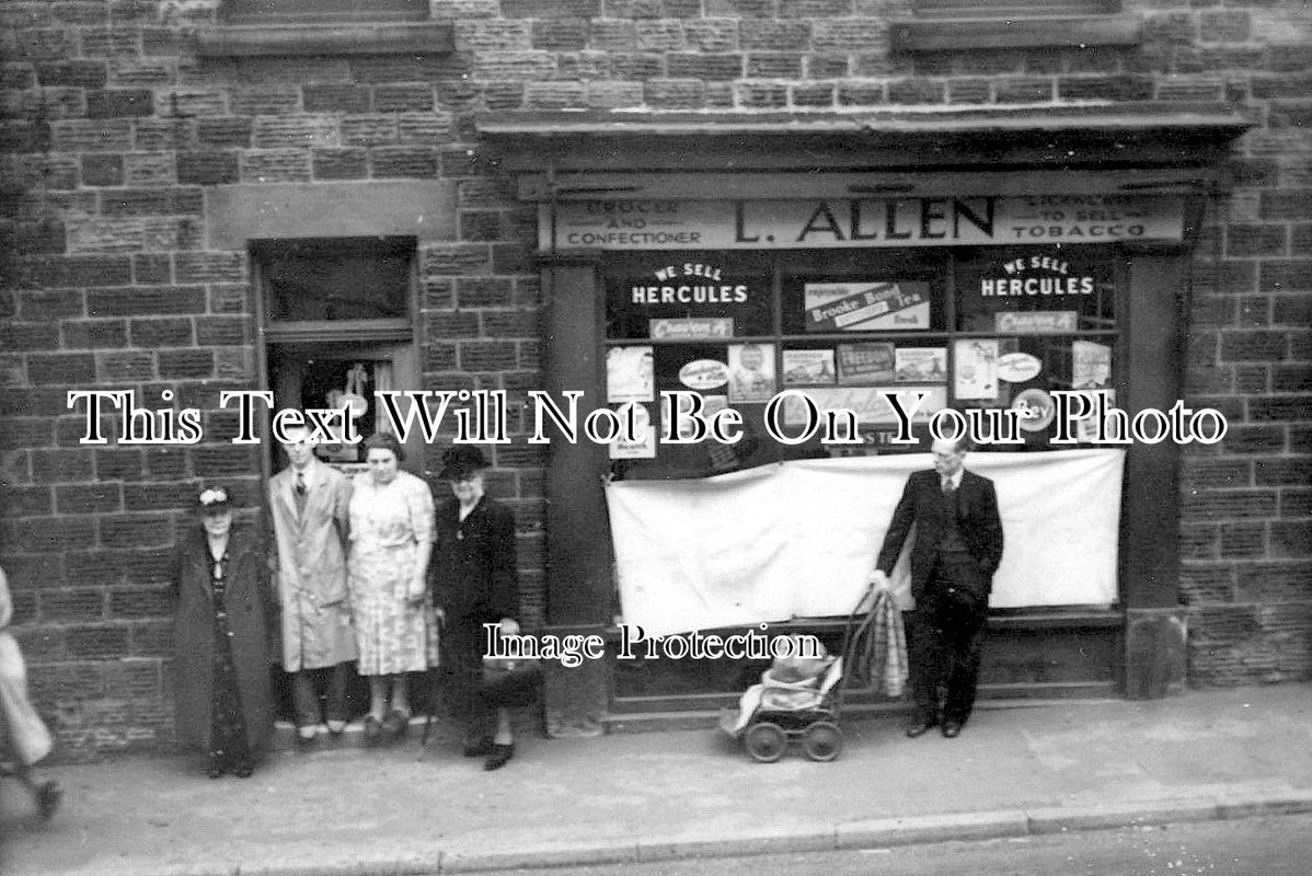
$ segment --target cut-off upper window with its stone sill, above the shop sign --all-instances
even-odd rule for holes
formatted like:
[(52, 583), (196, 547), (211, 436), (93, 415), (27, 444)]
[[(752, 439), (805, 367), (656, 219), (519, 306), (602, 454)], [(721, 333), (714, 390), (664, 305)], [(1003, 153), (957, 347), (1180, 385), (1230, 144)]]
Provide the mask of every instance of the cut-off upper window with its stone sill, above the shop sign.
[(895, 50), (1132, 46), (1140, 22), (1120, 0), (916, 0), (914, 17), (893, 21)]

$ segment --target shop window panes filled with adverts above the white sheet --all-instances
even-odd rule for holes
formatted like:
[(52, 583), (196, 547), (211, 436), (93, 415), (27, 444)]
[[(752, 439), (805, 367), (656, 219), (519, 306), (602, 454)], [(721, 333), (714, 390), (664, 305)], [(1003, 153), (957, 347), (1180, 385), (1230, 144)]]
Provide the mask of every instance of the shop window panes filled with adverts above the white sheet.
[[(1015, 412), (1006, 416), (1021, 425), (997, 435), (998, 450), (1067, 448), (1051, 441), (1052, 391), (1115, 404), (1120, 271), (1115, 249), (1098, 245), (617, 254), (604, 275), (607, 401), (635, 405), (653, 439), (613, 445), (613, 471), (698, 477), (790, 458), (913, 452), (945, 407)], [(855, 412), (858, 434), (775, 441), (765, 417), (785, 389)], [(706, 416), (737, 410), (744, 438), (655, 441), (668, 421), (678, 431), (677, 412), (661, 404), (670, 391), (695, 396), (689, 405)], [(888, 391), (908, 407), (924, 396), (918, 443), (893, 441)], [(800, 421), (786, 404), (783, 430)], [(1085, 426), (1080, 443), (1099, 443), (1093, 421)]]

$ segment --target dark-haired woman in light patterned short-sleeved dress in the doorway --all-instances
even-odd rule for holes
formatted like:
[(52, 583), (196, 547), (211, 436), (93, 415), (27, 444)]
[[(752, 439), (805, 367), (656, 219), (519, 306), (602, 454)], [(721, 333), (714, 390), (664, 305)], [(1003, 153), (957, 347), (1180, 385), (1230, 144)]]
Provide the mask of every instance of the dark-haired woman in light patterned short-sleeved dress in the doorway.
[(359, 674), (369, 679), (365, 737), (396, 738), (409, 725), (405, 674), (437, 665), (426, 586), (433, 496), (428, 484), (400, 469), (405, 451), (392, 435), (370, 437), (365, 451), (369, 471), (356, 476), (350, 497), (348, 584)]

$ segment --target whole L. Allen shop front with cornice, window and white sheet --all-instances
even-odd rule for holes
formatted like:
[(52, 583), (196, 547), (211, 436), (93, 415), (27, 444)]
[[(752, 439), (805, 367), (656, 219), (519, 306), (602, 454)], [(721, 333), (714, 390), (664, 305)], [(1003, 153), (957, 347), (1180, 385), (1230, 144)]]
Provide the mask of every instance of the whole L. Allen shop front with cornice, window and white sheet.
[[(998, 485), (981, 695), (1158, 696), (1182, 681), (1177, 459), (1225, 429), (1179, 403), (1182, 303), (1241, 121), (480, 130), (539, 203), (546, 388), (630, 425), (551, 445), (548, 626), (614, 644), (554, 674), (554, 732), (732, 702), (765, 661), (699, 660), (693, 631), (837, 647), (933, 430), (966, 431)], [(638, 629), (681, 641), (626, 654)]]

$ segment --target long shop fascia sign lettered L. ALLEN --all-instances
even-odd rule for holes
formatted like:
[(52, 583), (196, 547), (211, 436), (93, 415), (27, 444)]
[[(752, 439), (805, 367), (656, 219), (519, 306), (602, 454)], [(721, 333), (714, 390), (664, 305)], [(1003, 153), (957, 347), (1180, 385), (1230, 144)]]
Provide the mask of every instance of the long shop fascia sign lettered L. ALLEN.
[(1183, 202), (1148, 195), (567, 201), (546, 249), (791, 249), (1178, 241)]

